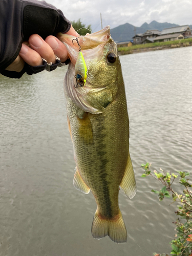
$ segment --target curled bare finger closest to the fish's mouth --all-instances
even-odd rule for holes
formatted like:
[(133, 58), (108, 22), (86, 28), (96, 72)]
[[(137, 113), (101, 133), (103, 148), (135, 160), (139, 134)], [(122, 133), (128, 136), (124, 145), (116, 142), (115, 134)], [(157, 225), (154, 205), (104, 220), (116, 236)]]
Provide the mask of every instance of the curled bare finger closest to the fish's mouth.
[(65, 45), (55, 36), (48, 36), (45, 41), (52, 48), (54, 54), (60, 58), (61, 62), (65, 62), (68, 59), (68, 51)]

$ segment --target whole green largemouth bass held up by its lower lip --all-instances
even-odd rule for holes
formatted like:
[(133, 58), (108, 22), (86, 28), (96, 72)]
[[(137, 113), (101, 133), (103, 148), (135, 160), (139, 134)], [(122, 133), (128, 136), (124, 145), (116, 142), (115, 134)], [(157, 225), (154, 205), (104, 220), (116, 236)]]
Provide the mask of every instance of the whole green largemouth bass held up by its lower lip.
[[(115, 243), (126, 243), (119, 189), (132, 199), (136, 181), (129, 152), (129, 116), (117, 45), (110, 26), (79, 36), (73, 44), (74, 36), (60, 33), (59, 39), (71, 59), (64, 91), (76, 163), (73, 184), (82, 193), (91, 190), (94, 195), (97, 209), (92, 236), (95, 239), (109, 236)], [(84, 86), (78, 86), (76, 79), (79, 56), (87, 68)]]

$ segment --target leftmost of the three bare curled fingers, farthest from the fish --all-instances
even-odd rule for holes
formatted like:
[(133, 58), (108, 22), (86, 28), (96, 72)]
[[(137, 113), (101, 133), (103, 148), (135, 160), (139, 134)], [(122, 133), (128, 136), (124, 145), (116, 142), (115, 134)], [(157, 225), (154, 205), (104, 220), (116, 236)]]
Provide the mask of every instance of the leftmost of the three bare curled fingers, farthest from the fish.
[(42, 58), (38, 52), (31, 49), (30, 47), (22, 44), (22, 49), (19, 52), (20, 57), (24, 59), (30, 66), (42, 65)]

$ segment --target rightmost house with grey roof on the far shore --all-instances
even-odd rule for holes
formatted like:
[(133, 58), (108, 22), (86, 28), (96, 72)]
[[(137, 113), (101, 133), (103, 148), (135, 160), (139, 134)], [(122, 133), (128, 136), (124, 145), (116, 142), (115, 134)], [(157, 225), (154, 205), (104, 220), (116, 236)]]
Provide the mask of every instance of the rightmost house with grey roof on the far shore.
[(191, 29), (188, 25), (163, 29), (154, 42), (174, 41), (191, 37)]

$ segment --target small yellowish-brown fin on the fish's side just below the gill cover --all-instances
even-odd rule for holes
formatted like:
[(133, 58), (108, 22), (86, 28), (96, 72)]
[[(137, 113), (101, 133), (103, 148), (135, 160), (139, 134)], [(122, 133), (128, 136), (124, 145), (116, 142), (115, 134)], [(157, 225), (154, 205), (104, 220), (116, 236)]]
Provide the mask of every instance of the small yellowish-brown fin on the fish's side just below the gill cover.
[(79, 137), (84, 143), (92, 143), (93, 142), (93, 131), (92, 124), (88, 117), (88, 114), (84, 112), (82, 118), (77, 117), (79, 124)]

